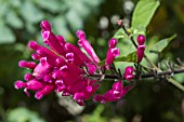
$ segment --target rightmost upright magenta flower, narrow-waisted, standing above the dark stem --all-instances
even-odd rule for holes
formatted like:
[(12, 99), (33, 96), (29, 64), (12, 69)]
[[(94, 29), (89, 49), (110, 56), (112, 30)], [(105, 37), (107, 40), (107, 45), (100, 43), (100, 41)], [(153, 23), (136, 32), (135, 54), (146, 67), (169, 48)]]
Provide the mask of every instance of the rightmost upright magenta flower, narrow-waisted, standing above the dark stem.
[(140, 35), (136, 39), (136, 41), (139, 43), (137, 49), (136, 49), (136, 55), (137, 55), (139, 63), (141, 63), (144, 57), (144, 50), (146, 48), (144, 45), (145, 40), (146, 40), (146, 38), (143, 35)]

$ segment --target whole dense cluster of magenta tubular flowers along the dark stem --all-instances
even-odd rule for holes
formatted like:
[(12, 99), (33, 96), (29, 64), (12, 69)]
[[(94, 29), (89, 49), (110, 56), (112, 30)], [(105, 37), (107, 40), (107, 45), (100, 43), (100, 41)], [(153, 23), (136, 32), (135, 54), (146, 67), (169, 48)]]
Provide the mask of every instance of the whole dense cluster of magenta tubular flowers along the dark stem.
[[(101, 72), (97, 65), (100, 58), (93, 48), (86, 39), (82, 30), (77, 31), (78, 45), (68, 43), (62, 36), (55, 36), (51, 30), (48, 21), (41, 22), (41, 35), (43, 42), (49, 48), (39, 45), (36, 41), (30, 41), (28, 46), (34, 50), (31, 57), (35, 62), (21, 60), (19, 67), (31, 69), (31, 73), (25, 74), (26, 82), (17, 80), (15, 89), (24, 89), (29, 96), (28, 91), (35, 91), (35, 97), (41, 99), (43, 96), (55, 92), (62, 92), (63, 96), (73, 96), (80, 106), (89, 99), (100, 87), (97, 80), (92, 80), (87, 76)], [(105, 68), (109, 69), (116, 56), (119, 55), (119, 49), (116, 48), (117, 40), (109, 40), (109, 48), (106, 56)], [(88, 55), (86, 55), (88, 54)], [(129, 68), (124, 74), (128, 80), (133, 78), (133, 69)], [(124, 96), (132, 86), (123, 86), (122, 81), (113, 84), (113, 89), (104, 95), (95, 95), (95, 101), (114, 101)]]

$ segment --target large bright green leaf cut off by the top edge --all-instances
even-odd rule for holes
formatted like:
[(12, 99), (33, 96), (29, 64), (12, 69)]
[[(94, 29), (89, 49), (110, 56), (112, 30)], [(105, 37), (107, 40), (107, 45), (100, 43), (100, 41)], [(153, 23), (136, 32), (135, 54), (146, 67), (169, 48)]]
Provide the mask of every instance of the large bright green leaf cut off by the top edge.
[(146, 28), (159, 4), (158, 0), (140, 0), (133, 12), (132, 27)]

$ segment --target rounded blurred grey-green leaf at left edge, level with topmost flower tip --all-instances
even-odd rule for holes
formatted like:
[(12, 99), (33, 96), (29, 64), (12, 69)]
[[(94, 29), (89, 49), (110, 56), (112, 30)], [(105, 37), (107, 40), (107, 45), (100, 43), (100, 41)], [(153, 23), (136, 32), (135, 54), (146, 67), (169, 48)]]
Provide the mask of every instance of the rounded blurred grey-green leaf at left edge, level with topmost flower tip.
[(0, 26), (0, 44), (2, 43), (13, 43), (15, 42), (15, 37), (12, 30), (5, 25)]

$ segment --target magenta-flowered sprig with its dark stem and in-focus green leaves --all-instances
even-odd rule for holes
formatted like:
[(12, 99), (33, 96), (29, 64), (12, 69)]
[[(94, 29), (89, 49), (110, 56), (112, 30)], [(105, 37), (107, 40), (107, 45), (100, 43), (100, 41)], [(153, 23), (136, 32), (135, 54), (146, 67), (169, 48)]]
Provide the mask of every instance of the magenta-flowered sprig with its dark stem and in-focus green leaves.
[[(159, 55), (175, 35), (155, 43), (152, 49), (146, 49), (145, 29), (158, 5), (159, 1), (141, 0), (134, 10), (131, 28), (126, 27), (121, 19), (117, 22), (120, 29), (109, 39), (104, 60), (98, 58), (83, 30), (76, 32), (77, 46), (62, 36), (54, 35), (51, 24), (42, 21), (41, 35), (47, 46), (39, 45), (36, 41), (28, 43), (28, 48), (34, 51), (31, 57), (35, 62), (21, 60), (18, 65), (30, 69), (31, 73), (25, 74), (26, 82), (17, 80), (15, 89), (24, 89), (27, 96), (30, 96), (29, 91), (34, 91), (37, 99), (52, 92), (62, 93), (63, 96), (71, 96), (80, 106), (84, 106), (84, 100), (91, 97), (102, 104), (121, 99), (130, 90), (133, 91), (142, 79), (148, 78), (167, 79), (184, 91), (184, 86), (172, 78), (175, 73), (184, 72), (183, 65), (172, 64), (168, 59), (163, 62), (167, 69), (160, 67)], [(121, 56), (123, 52), (117, 46), (120, 39), (127, 39), (134, 46), (134, 51), (127, 56)], [(158, 56), (157, 63), (149, 59), (147, 50)], [(120, 70), (118, 65), (115, 65), (117, 62), (129, 62), (133, 65)], [(111, 87), (103, 94), (95, 94), (107, 80), (113, 81)]]

